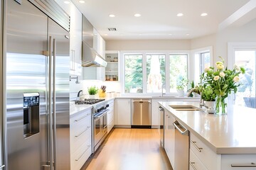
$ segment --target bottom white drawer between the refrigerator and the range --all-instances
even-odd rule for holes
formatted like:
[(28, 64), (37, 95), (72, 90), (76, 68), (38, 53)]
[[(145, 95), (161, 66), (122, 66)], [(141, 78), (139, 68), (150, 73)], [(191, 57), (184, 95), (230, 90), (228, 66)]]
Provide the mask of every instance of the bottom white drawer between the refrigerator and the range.
[(81, 145), (76, 152), (71, 154), (71, 169), (79, 170), (83, 164), (87, 161), (88, 157), (92, 154), (92, 145), (90, 140), (87, 140)]

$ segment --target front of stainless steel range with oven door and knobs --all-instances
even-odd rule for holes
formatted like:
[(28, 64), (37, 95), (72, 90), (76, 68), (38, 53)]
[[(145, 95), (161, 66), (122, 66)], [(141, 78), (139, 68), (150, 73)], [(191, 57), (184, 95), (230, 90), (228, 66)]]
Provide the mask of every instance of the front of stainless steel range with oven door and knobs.
[(98, 147), (102, 144), (107, 136), (107, 108), (109, 105), (107, 102), (101, 102), (93, 106), (93, 149), (92, 152), (95, 152)]

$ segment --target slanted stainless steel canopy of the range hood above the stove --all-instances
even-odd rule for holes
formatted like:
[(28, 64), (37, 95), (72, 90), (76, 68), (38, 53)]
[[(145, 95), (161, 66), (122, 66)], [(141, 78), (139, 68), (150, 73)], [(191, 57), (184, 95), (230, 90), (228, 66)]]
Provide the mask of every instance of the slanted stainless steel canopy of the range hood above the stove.
[(85, 42), (82, 42), (82, 67), (106, 67), (107, 62)]

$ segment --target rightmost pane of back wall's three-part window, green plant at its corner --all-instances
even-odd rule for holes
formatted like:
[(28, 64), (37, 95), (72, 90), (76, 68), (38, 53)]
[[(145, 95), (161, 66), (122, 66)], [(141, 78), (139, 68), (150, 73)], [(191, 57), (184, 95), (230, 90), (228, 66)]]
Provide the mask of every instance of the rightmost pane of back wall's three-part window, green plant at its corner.
[[(170, 92), (176, 92), (181, 79), (188, 79), (188, 55), (169, 55)], [(186, 88), (184, 89), (186, 91)]]

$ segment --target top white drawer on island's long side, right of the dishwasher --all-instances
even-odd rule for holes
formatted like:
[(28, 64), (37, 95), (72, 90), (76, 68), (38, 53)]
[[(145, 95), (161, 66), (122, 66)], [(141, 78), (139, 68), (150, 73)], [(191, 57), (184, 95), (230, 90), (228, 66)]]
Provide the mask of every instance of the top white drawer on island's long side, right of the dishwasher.
[[(203, 162), (209, 170), (218, 169), (218, 164), (216, 162), (220, 162), (220, 155), (215, 154), (208, 146), (206, 146), (201, 140), (198, 139), (193, 133), (191, 133), (191, 150), (198, 157), (198, 159)], [(200, 151), (201, 152), (200, 152)]]

